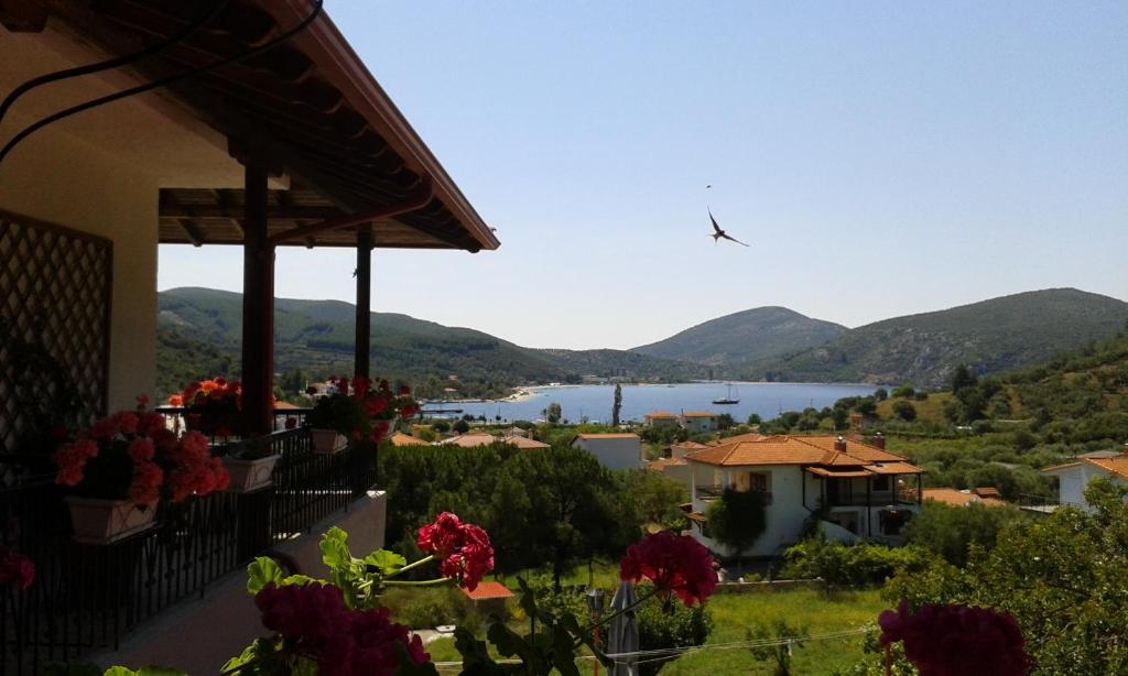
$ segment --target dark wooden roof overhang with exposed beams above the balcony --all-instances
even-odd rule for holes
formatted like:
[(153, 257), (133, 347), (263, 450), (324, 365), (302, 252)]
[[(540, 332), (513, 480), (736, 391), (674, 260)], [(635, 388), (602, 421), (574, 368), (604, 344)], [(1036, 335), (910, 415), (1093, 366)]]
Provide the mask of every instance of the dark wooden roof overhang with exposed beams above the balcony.
[[(113, 55), (175, 36), (214, 7), (204, 0), (51, 0), (43, 6), (50, 20), (61, 20)], [(297, 27), (315, 8), (311, 0), (230, 0), (204, 29), (132, 70), (148, 81), (245, 55)], [(355, 247), (356, 231), (371, 226), (373, 247), (478, 251), (500, 246), (324, 12), (291, 39), (180, 80), (162, 94), (224, 134), (240, 161), (284, 175), (289, 189), (271, 190), (268, 198), (272, 238), (326, 222), (345, 224), (277, 239), (277, 244)], [(241, 243), (243, 206), (237, 188), (165, 187), (160, 242)]]

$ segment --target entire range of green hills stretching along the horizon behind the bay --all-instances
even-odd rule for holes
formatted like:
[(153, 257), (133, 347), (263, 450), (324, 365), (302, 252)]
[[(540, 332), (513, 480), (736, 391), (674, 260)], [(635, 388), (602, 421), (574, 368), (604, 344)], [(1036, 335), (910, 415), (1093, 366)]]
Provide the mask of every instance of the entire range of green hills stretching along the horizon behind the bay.
[[(243, 297), (209, 288), (159, 294), (159, 390), (238, 372)], [(352, 368), (355, 309), (341, 301), (277, 299), (275, 368), (324, 376)], [(856, 329), (767, 306), (703, 322), (632, 350), (538, 349), (483, 331), (398, 313), (372, 313), (373, 370), (441, 393), (503, 395), (535, 382), (584, 375), (686, 381), (706, 377), (940, 386), (968, 364), (982, 374), (1038, 366), (1109, 338), (1128, 303), (1075, 288), (1020, 293), (888, 319)]]

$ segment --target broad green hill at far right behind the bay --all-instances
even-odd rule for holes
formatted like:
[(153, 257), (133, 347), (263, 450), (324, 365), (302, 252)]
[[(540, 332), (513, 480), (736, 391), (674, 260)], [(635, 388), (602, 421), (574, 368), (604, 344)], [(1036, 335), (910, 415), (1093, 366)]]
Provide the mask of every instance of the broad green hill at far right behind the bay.
[(752, 379), (943, 386), (963, 363), (980, 374), (1030, 368), (1113, 336), (1128, 303), (1075, 288), (1020, 293), (888, 319), (742, 371)]

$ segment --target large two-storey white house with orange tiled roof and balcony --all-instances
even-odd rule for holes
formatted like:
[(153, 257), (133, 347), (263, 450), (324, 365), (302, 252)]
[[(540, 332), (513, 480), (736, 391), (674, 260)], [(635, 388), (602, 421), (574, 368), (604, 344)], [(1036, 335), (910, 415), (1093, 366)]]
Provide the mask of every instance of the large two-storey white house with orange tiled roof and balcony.
[[(764, 493), (767, 526), (744, 555), (772, 557), (799, 541), (804, 523), (838, 540), (897, 544), (901, 526), (920, 509), (924, 470), (887, 453), (884, 439), (862, 443), (834, 436), (770, 436), (721, 443), (685, 456), (693, 500), (691, 533), (716, 552), (707, 510), (724, 489)], [(914, 480), (915, 478), (915, 480)], [(910, 491), (909, 483), (916, 490)]]

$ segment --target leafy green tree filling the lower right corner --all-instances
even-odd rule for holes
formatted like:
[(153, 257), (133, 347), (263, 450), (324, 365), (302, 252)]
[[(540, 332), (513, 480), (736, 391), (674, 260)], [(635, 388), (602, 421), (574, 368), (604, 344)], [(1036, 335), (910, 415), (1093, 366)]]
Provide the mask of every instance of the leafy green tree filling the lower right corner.
[(975, 550), (966, 568), (933, 562), (899, 575), (890, 604), (907, 598), (979, 605), (1014, 615), (1036, 674), (1128, 673), (1128, 498), (1094, 481), (1093, 514), (1061, 509), (1006, 528), (990, 551)]

